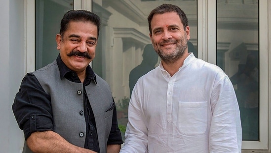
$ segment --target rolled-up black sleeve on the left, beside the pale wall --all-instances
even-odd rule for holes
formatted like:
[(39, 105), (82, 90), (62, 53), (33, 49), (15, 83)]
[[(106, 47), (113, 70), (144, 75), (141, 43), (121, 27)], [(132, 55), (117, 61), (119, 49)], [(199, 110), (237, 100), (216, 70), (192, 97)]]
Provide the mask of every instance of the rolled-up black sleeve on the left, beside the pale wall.
[(50, 96), (42, 89), (34, 74), (28, 73), (23, 78), (12, 110), (19, 128), (24, 131), (25, 140), (36, 131), (53, 131)]

